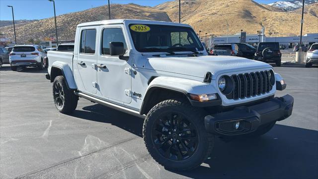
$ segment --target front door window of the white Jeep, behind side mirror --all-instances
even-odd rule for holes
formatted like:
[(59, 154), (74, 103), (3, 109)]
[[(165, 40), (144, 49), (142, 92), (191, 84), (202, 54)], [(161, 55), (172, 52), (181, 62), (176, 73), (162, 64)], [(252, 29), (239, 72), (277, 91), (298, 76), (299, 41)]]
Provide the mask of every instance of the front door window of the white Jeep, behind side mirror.
[(125, 37), (121, 28), (105, 28), (102, 35), (102, 50), (103, 55), (109, 55), (109, 42), (123, 42), (127, 50)]

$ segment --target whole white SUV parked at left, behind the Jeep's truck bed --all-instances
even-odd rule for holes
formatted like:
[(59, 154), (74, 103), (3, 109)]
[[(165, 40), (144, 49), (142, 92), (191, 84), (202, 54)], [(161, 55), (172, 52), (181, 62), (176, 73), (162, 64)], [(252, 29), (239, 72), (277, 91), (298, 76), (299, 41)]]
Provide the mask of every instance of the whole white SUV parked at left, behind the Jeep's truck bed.
[(9, 57), (11, 70), (16, 71), (17, 67), (38, 67), (42, 70), (45, 68), (45, 57), (46, 54), (38, 45), (16, 45)]

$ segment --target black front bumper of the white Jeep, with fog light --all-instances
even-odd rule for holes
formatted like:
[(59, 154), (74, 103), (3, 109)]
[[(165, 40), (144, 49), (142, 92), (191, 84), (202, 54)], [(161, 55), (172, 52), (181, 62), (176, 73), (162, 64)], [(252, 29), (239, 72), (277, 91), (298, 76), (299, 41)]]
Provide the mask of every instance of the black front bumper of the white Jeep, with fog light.
[(216, 135), (242, 135), (292, 114), (294, 98), (287, 94), (251, 106), (239, 106), (231, 111), (207, 115), (206, 131)]

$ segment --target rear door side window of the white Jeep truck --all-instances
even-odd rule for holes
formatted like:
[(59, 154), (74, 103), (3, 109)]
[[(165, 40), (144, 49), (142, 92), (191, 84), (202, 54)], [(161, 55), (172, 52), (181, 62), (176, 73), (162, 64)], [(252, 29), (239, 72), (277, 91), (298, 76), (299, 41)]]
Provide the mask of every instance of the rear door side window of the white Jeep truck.
[(94, 54), (96, 44), (96, 29), (81, 31), (80, 53)]

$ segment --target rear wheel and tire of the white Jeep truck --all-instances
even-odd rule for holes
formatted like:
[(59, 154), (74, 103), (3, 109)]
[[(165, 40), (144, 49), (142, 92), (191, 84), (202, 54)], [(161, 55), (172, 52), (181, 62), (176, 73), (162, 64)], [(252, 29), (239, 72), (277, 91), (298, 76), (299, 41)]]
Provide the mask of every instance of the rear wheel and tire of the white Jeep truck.
[(74, 90), (68, 89), (63, 76), (57, 76), (53, 82), (53, 100), (59, 112), (72, 113), (77, 105), (79, 96), (75, 95)]

